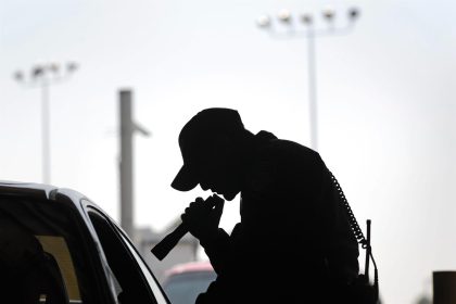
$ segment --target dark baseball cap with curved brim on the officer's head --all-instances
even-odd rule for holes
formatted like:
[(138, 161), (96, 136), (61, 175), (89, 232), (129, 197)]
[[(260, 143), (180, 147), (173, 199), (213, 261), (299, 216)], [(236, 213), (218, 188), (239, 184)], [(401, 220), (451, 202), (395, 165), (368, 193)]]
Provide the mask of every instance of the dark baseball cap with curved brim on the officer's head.
[(183, 165), (172, 182), (179, 191), (189, 191), (199, 181), (198, 168), (207, 153), (207, 147), (217, 137), (236, 135), (244, 126), (238, 111), (226, 107), (210, 107), (194, 115), (179, 134), (179, 148)]

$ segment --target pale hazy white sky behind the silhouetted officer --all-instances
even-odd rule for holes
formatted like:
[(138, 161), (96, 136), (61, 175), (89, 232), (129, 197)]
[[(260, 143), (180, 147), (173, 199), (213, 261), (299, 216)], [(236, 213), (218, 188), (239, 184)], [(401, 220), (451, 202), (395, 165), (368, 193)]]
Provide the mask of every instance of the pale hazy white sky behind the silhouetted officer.
[[(306, 40), (273, 39), (255, 20), (286, 8), (324, 27), (327, 5), (338, 26), (349, 8), (362, 14), (349, 35), (316, 42), (318, 150), (363, 228), (372, 219), (383, 303), (415, 303), (430, 294), (433, 270), (456, 269), (449, 0), (0, 0), (0, 179), (41, 181), (40, 90), (13, 73), (76, 61), (50, 90), (51, 183), (118, 218), (117, 100), (129, 88), (136, 121), (152, 132), (135, 138), (136, 221), (165, 228), (210, 194), (169, 187), (179, 130), (198, 111), (237, 109), (254, 132), (309, 144)], [(221, 224), (237, 220), (235, 200)]]

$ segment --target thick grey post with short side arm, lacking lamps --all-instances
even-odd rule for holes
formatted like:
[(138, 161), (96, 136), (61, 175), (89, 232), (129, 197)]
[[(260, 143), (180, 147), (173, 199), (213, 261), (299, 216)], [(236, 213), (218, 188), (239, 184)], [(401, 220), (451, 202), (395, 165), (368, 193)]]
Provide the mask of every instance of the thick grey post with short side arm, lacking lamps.
[(131, 90), (119, 91), (121, 115), (121, 226), (136, 242), (134, 219), (134, 144), (135, 131), (148, 137), (150, 132), (140, 127), (132, 118), (132, 93)]

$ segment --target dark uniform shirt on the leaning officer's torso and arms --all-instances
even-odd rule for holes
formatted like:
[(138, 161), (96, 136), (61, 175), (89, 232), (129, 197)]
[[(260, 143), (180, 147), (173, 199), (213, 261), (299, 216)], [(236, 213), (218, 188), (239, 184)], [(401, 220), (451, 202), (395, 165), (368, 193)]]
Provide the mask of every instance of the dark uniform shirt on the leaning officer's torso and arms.
[(218, 277), (197, 303), (305, 303), (358, 274), (358, 244), (320, 155), (267, 131), (254, 140), (241, 221), (202, 243)]

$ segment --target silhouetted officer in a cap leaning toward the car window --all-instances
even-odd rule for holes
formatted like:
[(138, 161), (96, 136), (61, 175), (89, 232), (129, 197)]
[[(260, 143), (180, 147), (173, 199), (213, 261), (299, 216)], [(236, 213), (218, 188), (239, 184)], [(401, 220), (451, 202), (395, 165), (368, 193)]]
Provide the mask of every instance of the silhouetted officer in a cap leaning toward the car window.
[(358, 275), (358, 244), (320, 155), (253, 135), (230, 109), (199, 112), (179, 147), (173, 188), (241, 198), (230, 235), (218, 228), (224, 200), (198, 198), (181, 216), (218, 275), (197, 303), (335, 303), (334, 287)]

